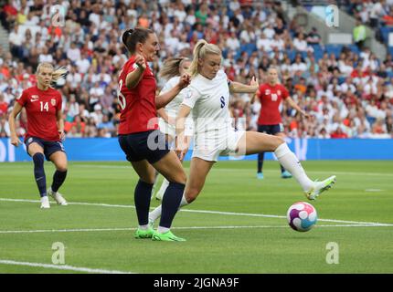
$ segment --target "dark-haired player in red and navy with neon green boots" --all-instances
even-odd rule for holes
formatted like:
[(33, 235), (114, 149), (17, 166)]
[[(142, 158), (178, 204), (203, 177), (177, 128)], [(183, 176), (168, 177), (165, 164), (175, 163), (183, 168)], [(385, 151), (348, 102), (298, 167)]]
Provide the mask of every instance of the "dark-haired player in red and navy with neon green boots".
[[(131, 57), (119, 75), (118, 98), (122, 108), (119, 143), (140, 178), (134, 192), (139, 223), (134, 236), (158, 241), (184, 241), (172, 234), (170, 226), (183, 198), (186, 172), (175, 151), (169, 150), (165, 134), (158, 130), (156, 110), (174, 99), (190, 79), (183, 75), (173, 89), (156, 97), (154, 74), (147, 62), (153, 61), (160, 49), (157, 36), (150, 29), (137, 27), (125, 31), (122, 42)], [(157, 231), (148, 222), (154, 169), (169, 181)]]

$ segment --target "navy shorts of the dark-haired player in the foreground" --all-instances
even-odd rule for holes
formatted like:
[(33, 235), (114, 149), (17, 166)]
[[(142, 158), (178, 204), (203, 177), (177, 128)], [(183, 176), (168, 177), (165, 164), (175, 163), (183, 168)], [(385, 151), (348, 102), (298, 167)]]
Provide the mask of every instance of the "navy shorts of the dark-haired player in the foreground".
[(165, 134), (160, 130), (119, 135), (118, 139), (129, 162), (147, 160), (153, 164), (160, 161), (169, 152)]

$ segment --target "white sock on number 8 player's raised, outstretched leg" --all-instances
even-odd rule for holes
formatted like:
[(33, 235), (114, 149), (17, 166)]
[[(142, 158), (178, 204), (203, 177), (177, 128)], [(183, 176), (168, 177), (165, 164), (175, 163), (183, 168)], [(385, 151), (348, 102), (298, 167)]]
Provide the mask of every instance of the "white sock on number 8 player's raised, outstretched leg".
[(293, 177), (300, 183), (303, 191), (308, 191), (313, 186), (313, 181), (309, 179), (303, 170), (302, 164), (297, 159), (296, 155), (288, 148), (287, 143), (282, 143), (274, 151), (277, 159), (284, 169), (291, 172)]

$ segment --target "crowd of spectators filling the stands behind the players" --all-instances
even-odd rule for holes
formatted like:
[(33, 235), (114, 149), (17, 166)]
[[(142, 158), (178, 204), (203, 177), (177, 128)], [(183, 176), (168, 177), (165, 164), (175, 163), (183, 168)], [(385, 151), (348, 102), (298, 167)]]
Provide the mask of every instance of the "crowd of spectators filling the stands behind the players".
[[(64, 17), (56, 13), (58, 7)], [(21, 91), (35, 84), (43, 61), (69, 67), (59, 89), (67, 137), (116, 136), (117, 75), (128, 58), (121, 36), (135, 26), (152, 28), (161, 42), (151, 64), (159, 87), (165, 83), (158, 78), (165, 58), (192, 57), (197, 40), (205, 38), (222, 49), (223, 69), (232, 80), (248, 83), (255, 76), (262, 83), (270, 66), (279, 68), (292, 99), (312, 114), (302, 119), (283, 105), (290, 137), (393, 135), (392, 56), (379, 59), (367, 47), (324, 52), (318, 31), (305, 31), (288, 19), (281, 2), (9, 0), (0, 14), (10, 43), (10, 51), (0, 47), (0, 137), (9, 136), (7, 115)], [(318, 50), (324, 52), (319, 57)], [(260, 104), (250, 104), (250, 98), (233, 95), (230, 109), (236, 127), (256, 130)], [(26, 121), (22, 112), (19, 135)]]

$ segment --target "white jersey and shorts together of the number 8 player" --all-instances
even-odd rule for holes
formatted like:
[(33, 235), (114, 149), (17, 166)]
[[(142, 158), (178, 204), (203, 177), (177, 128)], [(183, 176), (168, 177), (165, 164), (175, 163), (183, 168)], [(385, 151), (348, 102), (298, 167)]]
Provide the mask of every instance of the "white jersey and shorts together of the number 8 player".
[(196, 129), (192, 157), (217, 162), (219, 156), (238, 156), (244, 131), (232, 127), (227, 74), (219, 70), (213, 79), (197, 75), (187, 89), (183, 104), (192, 109)]

